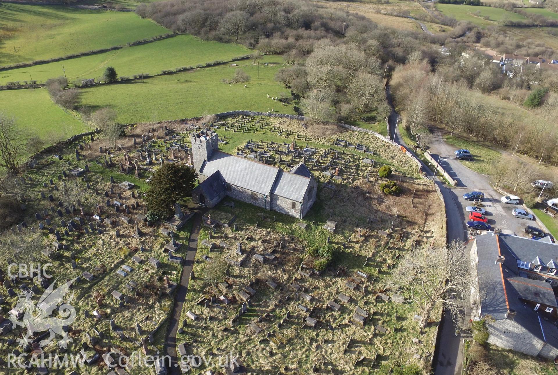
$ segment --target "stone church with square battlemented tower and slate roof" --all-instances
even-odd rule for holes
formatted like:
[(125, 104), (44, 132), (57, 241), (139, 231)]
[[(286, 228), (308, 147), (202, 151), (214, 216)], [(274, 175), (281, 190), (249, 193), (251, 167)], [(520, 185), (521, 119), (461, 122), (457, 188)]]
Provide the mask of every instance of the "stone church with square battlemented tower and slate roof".
[(219, 151), (218, 134), (199, 131), (190, 136), (192, 161), (200, 184), (194, 201), (214, 207), (225, 196), (267, 210), (303, 218), (316, 200), (318, 184), (299, 164), (290, 171)]

